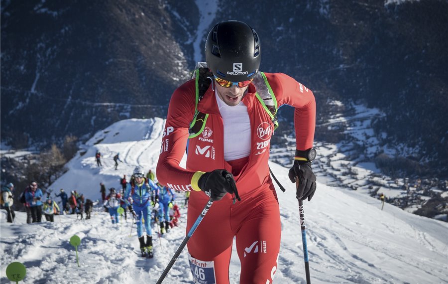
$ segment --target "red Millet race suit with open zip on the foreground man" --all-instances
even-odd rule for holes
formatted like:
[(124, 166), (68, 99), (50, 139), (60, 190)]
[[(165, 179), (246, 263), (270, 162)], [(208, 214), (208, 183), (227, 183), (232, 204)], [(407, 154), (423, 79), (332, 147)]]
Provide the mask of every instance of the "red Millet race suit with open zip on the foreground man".
[[(278, 107), (289, 105), (295, 108), (297, 149), (312, 147), (316, 125), (313, 92), (288, 75), (265, 75)], [(157, 178), (161, 184), (172, 189), (192, 191), (187, 214), (188, 232), (209, 200), (203, 191), (193, 188), (192, 177), (195, 172), (215, 169), (231, 172), (241, 201), (233, 204), (233, 196), (226, 194), (223, 199), (213, 203), (187, 245), (192, 272), (192, 264), (201, 267), (204, 265), (202, 262), (213, 261), (214, 281), (229, 283), (230, 255), (233, 237), (236, 236), (236, 250), (241, 262), (240, 283), (272, 283), (277, 270), (281, 235), (279, 204), (268, 167), (274, 125), (255, 97), (253, 84), (249, 85), (241, 102), (247, 106), (250, 120), (250, 154), (237, 160), (225, 161), (223, 118), (212, 86), (197, 106), (200, 112), (209, 115), (204, 131), (192, 139), (188, 139), (188, 131), (195, 114), (195, 80), (177, 88), (168, 108)], [(185, 169), (179, 163), (186, 148), (188, 157)]]

